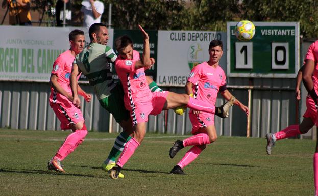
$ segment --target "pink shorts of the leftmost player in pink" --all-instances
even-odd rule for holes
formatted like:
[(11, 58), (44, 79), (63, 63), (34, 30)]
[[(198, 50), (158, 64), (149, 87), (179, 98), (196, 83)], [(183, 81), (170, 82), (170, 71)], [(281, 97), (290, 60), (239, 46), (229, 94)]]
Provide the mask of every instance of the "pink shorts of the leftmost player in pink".
[(52, 103), (50, 102), (54, 113), (61, 121), (61, 129), (70, 129), (70, 124), (76, 124), (84, 121), (82, 111), (75, 107), (70, 101), (68, 103)]

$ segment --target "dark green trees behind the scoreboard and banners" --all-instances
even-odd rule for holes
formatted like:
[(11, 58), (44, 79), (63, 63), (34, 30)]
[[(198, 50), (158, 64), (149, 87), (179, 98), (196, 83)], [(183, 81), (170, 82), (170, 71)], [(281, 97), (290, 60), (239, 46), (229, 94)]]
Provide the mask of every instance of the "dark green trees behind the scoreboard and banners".
[[(33, 9), (42, 12), (47, 2), (50, 1), (33, 1)], [(55, 5), (55, 0), (51, 2)], [(145, 29), (156, 30), (226, 31), (227, 21), (299, 21), (304, 37), (318, 37), (315, 0), (105, 0), (104, 22), (108, 22), (109, 3), (112, 27), (116, 29), (136, 29), (141, 24)], [(74, 14), (78, 15), (81, 1), (72, 4)]]

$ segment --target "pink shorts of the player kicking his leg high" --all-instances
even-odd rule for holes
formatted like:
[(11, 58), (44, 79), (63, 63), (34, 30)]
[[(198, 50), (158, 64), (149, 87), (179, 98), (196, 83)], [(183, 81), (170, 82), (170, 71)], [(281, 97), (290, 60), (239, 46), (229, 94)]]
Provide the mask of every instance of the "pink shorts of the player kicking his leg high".
[(133, 119), (133, 125), (148, 121), (148, 115), (158, 115), (161, 113), (162, 108), (167, 100), (168, 92), (153, 92), (151, 103), (135, 103), (135, 110), (130, 110), (131, 117), (136, 116), (136, 120)]

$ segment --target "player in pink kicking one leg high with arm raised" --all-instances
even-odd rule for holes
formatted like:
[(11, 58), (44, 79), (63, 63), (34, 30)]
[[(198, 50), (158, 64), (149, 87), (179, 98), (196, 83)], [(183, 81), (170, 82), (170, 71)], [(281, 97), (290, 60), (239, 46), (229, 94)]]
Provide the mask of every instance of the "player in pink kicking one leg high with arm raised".
[(119, 55), (115, 61), (115, 69), (124, 88), (125, 107), (130, 110), (134, 126), (134, 137), (127, 142), (117, 164), (110, 170), (110, 177), (117, 179), (123, 165), (133, 155), (145, 136), (148, 115), (159, 114), (161, 110), (186, 105), (187, 107), (215, 113), (215, 106), (193, 99), (186, 94), (163, 91), (152, 93), (147, 86), (144, 70), (149, 69), (155, 60), (150, 58), (149, 36), (138, 25), (143, 34), (144, 46), (141, 60), (138, 52), (133, 50), (133, 43), (128, 36), (116, 39), (115, 45)]

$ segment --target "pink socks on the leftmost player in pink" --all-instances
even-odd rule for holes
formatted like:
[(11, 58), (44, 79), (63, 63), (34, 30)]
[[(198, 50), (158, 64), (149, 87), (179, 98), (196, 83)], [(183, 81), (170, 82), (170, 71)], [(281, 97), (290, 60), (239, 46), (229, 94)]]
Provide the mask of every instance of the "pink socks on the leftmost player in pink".
[(65, 159), (83, 142), (86, 135), (87, 130), (76, 130), (68, 135), (53, 159), (60, 159), (61, 161)]

